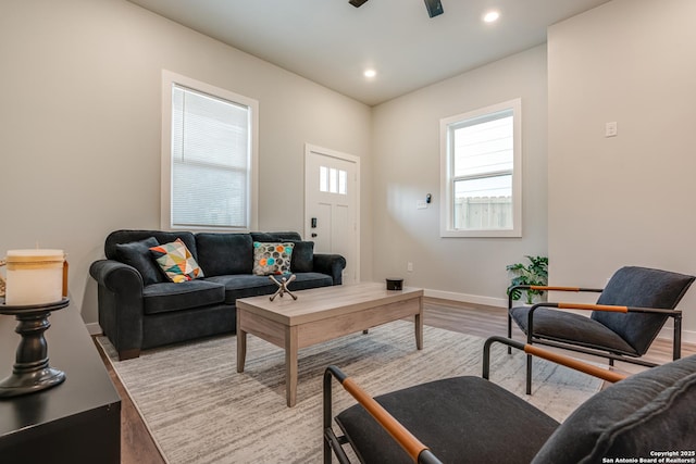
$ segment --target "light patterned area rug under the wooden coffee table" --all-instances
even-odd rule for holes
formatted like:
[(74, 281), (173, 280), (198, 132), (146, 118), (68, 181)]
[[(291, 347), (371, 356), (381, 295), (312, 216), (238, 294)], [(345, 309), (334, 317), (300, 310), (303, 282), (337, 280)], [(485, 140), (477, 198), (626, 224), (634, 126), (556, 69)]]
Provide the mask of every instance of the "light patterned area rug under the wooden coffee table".
[[(247, 337), (244, 373), (236, 372), (236, 337), (224, 336), (142, 352), (116, 361), (99, 342), (171, 464), (321, 463), (322, 378), (340, 367), (371, 394), (450, 376), (481, 376), (478, 337), (424, 327), (415, 349), (413, 323), (397, 321), (299, 352), (297, 404), (285, 402), (285, 354)], [(597, 392), (600, 380), (535, 360), (533, 394), (524, 394), (525, 356), (497, 343), (490, 380), (562, 422)], [(334, 383), (334, 412), (353, 404)]]

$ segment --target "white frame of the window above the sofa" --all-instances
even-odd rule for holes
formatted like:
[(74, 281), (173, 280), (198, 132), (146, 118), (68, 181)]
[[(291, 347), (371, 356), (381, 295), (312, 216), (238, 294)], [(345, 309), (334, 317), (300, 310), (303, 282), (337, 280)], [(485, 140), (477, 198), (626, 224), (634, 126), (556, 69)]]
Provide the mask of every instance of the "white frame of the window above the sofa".
[[(173, 188), (173, 154), (172, 154), (172, 88), (188, 88), (199, 93), (206, 93), (216, 99), (247, 106), (249, 109), (249, 191), (247, 204), (246, 227), (226, 226), (175, 226), (172, 224), (172, 188)], [(160, 192), (160, 227), (163, 230), (194, 230), (194, 231), (238, 231), (248, 233), (258, 228), (258, 198), (259, 198), (259, 102), (254, 99), (215, 87), (194, 78), (162, 70), (162, 141), (161, 141), (161, 192)]]

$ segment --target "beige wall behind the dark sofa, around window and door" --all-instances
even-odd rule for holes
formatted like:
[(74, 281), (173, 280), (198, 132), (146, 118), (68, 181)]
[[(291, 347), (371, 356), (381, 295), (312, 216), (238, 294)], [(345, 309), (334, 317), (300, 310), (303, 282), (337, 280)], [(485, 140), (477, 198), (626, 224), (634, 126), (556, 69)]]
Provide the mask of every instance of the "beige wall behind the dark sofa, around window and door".
[(0, 59), (0, 253), (64, 249), (87, 323), (104, 237), (160, 227), (162, 68), (259, 101), (260, 229), (302, 231), (306, 142), (370, 164), (366, 105), (123, 0), (3, 0)]

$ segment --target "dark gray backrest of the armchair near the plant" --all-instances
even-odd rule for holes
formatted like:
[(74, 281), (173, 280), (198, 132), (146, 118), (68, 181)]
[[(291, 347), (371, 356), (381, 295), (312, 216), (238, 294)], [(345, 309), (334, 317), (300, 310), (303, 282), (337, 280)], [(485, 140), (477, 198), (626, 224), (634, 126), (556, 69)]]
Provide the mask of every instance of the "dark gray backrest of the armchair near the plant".
[[(597, 304), (673, 310), (681, 301), (694, 276), (627, 266), (617, 271), (607, 283)], [(666, 315), (645, 313), (609, 313), (595, 311), (592, 318), (619, 334), (643, 355), (667, 321)]]

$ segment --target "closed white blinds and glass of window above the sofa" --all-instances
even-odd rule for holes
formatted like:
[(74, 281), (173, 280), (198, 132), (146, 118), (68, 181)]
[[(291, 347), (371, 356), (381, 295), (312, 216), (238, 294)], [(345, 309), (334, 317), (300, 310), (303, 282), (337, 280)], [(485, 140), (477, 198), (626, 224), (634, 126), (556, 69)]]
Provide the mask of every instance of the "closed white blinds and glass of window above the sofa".
[(250, 109), (172, 86), (172, 227), (249, 228)]

